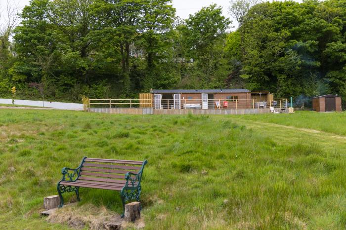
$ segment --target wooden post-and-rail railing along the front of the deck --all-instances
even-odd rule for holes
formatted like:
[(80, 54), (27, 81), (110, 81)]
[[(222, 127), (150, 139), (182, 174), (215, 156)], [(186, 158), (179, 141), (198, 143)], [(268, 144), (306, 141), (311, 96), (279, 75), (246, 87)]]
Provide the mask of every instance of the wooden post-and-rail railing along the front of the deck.
[(287, 99), (89, 99), (90, 108), (269, 109), (286, 110)]

